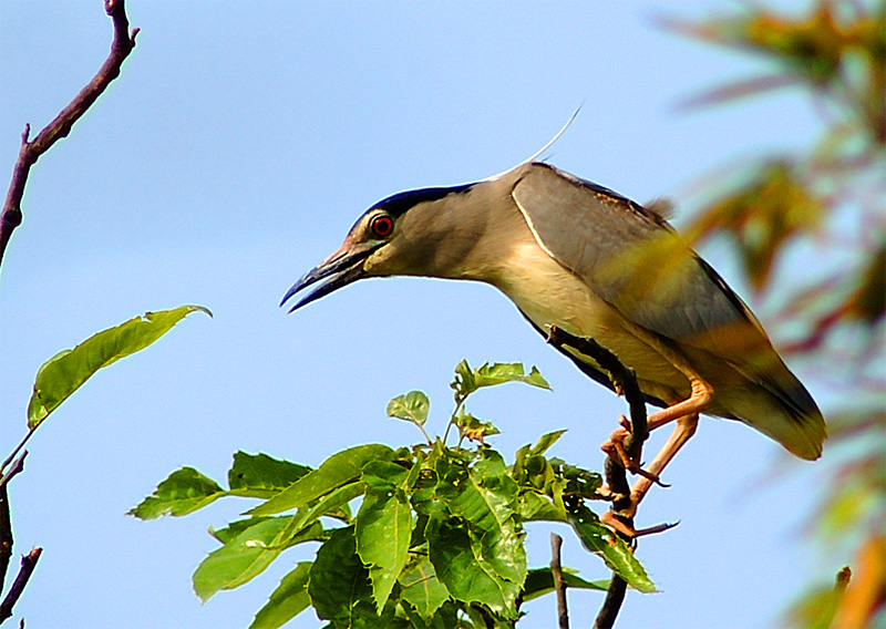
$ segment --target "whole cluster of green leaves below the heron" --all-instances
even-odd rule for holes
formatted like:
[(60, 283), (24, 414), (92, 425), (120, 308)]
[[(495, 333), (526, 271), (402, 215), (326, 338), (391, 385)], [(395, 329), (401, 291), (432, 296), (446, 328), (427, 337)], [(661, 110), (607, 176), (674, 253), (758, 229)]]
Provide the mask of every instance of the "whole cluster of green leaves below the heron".
[(527, 374), (518, 363), (473, 369), (462, 361), (445, 429), (457, 430), (455, 445), (429, 434), (430, 401), (412, 391), (394, 398), (388, 414), (415, 424), (424, 437), (419, 445), (359, 445), (317, 468), (238, 452), (227, 488), (183, 467), (130, 514), (152, 519), (188, 515), (222, 497), (260, 501), (244, 519), (210, 529), (222, 547), (194, 573), (203, 600), (248, 582), (288, 548), (319, 543), (312, 561), (284, 577), (253, 629), (280, 627), (309, 607), (336, 628), (511, 628), (522, 604), (554, 591), (557, 579), (608, 587), (566, 568), (556, 579), (550, 567), (530, 569), (527, 522), (569, 524), (627, 585), (655, 591), (629, 544), (586, 504), (601, 498), (600, 475), (547, 455), (565, 431), (521, 447), (511, 464), (485, 443), (497, 430), (470, 415), (465, 402), (505, 382), (549, 388), (536, 369)]

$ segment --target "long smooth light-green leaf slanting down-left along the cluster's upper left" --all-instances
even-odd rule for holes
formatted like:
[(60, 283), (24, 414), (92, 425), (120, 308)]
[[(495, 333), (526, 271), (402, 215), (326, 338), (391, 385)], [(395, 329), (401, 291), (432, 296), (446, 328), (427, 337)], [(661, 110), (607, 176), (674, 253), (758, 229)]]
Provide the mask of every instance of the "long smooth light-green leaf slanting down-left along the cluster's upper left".
[(249, 515), (274, 515), (308, 505), (332, 489), (360, 476), (360, 470), (371, 461), (390, 461), (394, 451), (387, 445), (370, 443), (338, 452), (320, 467), (306, 474), (268, 502), (247, 512)]

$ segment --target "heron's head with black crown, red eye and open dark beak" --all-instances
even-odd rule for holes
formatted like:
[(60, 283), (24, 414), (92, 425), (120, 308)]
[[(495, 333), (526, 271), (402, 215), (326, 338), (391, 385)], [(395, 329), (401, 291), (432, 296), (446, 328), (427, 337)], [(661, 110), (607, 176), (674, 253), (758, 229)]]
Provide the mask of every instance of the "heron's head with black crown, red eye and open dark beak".
[(370, 207), (353, 224), (341, 247), (305, 274), (284, 297), (326, 280), (289, 310), (316, 301), (365, 277), (444, 275), (449, 258), (459, 256), (459, 243), (449, 241), (453, 221), (474, 184), (423, 188), (390, 196)]

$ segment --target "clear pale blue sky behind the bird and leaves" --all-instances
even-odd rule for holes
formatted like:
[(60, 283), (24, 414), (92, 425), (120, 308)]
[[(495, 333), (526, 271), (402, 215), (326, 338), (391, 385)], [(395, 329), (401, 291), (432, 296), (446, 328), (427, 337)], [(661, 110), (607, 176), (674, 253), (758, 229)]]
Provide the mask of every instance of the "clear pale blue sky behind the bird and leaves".
[[(24, 123), (47, 124), (104, 60), (101, 4), (0, 3), (0, 173)], [(138, 44), (33, 168), (7, 251), (0, 444), (23, 435), (34, 373), (59, 350), (146, 310), (199, 303), (215, 318), (192, 316), (96, 375), (31, 441), (11, 502), (16, 553), (45, 548), (17, 608), (34, 627), (246, 627), (307, 555), (289, 551), (200, 605), (189, 578), (216, 547), (206, 527), (247, 503), (153, 523), (124, 513), (179, 466), (223, 478), (238, 448), (316, 465), (359, 443), (412, 443), (414, 427), (384, 417), (388, 400), (423, 389), (441, 430), (462, 358), (536, 364), (554, 386), (472, 400), (503, 431), (493, 441), (503, 453), (568, 427), (555, 454), (600, 466), (621, 402), (492, 288), (372, 280), (292, 316), (277, 308), (375, 200), (505, 171), (583, 105), (549, 161), (638, 202), (672, 198), (679, 227), (701, 176), (803, 149), (818, 130), (792, 92), (677, 111), (766, 70), (653, 23), (739, 8), (725, 1), (128, 4)], [(750, 297), (728, 248), (702, 254)], [(831, 570), (800, 538), (821, 476), (742, 425), (702, 420), (667, 471), (673, 486), (640, 512), (640, 525), (681, 520), (640, 545), (662, 592), (629, 595), (619, 626), (771, 625), (811, 575)], [(547, 532), (529, 529), (533, 565), (549, 560)], [(571, 539), (564, 560), (606, 576)], [(588, 626), (600, 595), (570, 596), (574, 626)], [(526, 611), (522, 628), (554, 622), (553, 600)], [(305, 612), (291, 626), (321, 623)]]

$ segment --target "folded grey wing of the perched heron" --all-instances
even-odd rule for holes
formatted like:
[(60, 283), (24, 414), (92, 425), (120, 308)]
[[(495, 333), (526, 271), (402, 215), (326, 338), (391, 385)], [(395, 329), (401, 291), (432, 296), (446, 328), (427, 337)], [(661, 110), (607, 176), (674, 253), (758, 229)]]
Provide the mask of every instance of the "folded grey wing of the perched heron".
[(546, 164), (512, 195), (539, 245), (630, 321), (709, 351), (714, 330), (763, 333), (713, 269), (636, 203)]

